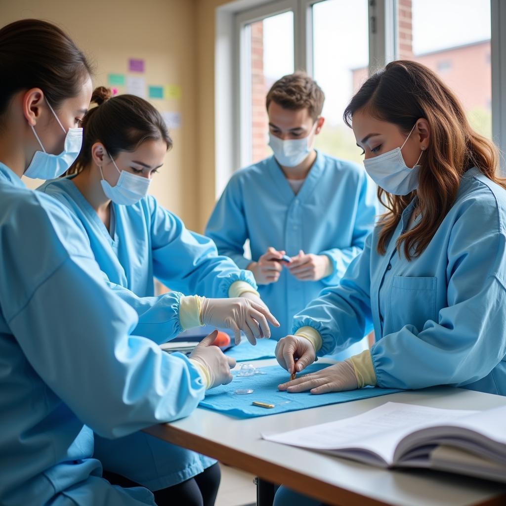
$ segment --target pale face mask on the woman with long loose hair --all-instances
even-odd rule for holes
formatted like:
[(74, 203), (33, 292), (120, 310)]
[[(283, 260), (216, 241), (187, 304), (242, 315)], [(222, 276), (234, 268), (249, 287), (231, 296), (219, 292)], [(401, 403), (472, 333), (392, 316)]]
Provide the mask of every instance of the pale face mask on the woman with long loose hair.
[(400, 148), (364, 160), (365, 170), (374, 183), (392, 195), (408, 195), (418, 187), (418, 172), (420, 170), (418, 162), (424, 150), (421, 150), (413, 168), (406, 166), (401, 153), (401, 149), (406, 144), (415, 126), (416, 123)]

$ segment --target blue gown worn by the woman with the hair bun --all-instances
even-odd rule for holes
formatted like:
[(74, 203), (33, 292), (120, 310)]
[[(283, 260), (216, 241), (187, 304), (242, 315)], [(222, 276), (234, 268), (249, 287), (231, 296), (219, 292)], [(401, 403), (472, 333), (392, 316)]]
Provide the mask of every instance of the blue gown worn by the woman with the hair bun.
[[(48, 181), (40, 190), (77, 217), (111, 288), (137, 311), (135, 332), (158, 344), (183, 331), (179, 321), (181, 292), (223, 298), (228, 297), (234, 281), (257, 286), (249, 271), (241, 271), (230, 259), (219, 256), (213, 241), (187, 230), (150, 195), (135, 205), (112, 203), (111, 235), (72, 177)], [(179, 291), (153, 297), (153, 276)], [(142, 432), (118, 440), (97, 436), (95, 456), (107, 471), (150, 490), (186, 481), (216, 462)]]

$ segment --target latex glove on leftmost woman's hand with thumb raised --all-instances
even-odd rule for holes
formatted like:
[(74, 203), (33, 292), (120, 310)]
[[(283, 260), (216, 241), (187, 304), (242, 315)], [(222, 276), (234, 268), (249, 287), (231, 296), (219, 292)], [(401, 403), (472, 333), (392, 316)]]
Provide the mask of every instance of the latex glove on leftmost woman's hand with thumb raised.
[(232, 381), (230, 369), (235, 367), (235, 359), (227, 357), (213, 343), (218, 335), (218, 330), (207, 335), (191, 352), (189, 359), (198, 362), (207, 373), (207, 388), (218, 385), (227, 385)]

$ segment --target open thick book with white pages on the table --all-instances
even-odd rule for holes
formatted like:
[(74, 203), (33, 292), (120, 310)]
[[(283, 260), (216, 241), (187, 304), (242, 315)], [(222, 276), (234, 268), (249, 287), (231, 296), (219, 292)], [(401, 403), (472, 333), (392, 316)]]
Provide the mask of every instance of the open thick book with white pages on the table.
[(416, 467), (506, 483), (506, 406), (486, 411), (387, 402), (264, 439), (384, 468)]

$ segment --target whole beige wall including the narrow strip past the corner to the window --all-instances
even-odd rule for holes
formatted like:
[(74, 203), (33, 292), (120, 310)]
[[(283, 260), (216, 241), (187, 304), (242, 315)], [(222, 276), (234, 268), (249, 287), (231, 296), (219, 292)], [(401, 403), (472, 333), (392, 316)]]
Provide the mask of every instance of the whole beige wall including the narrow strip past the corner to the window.
[(0, 0), (0, 25), (34, 17), (70, 33), (97, 65), (96, 86), (107, 84), (108, 73), (128, 74), (129, 58), (146, 60), (148, 83), (181, 86), (181, 100), (152, 100), (180, 112), (182, 125), (171, 132), (174, 148), (151, 193), (199, 232), (215, 203), (215, 23), (216, 8), (228, 1)]

